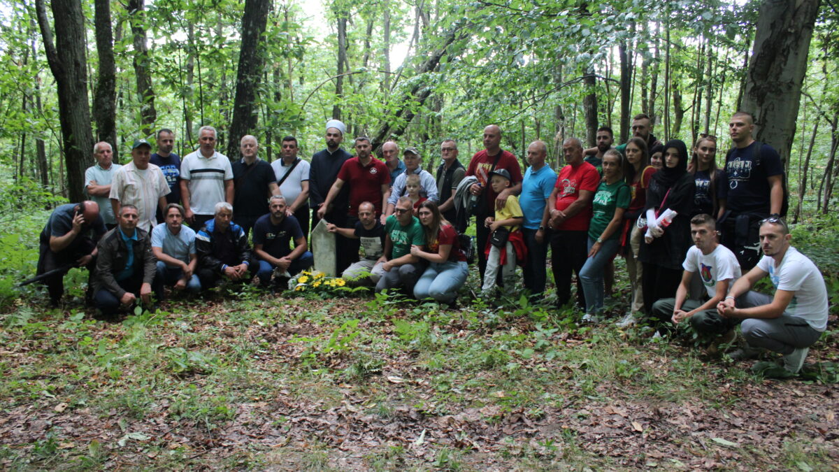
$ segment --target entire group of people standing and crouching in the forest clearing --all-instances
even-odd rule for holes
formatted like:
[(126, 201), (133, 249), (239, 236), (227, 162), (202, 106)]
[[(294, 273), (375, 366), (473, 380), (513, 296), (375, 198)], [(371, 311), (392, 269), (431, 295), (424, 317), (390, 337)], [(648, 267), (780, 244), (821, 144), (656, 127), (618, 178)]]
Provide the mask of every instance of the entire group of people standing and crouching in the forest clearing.
[[(806, 258), (789, 247), (789, 229), (779, 218), (783, 165), (774, 149), (754, 141), (748, 113), (732, 116), (734, 147), (722, 169), (716, 137), (702, 135), (690, 151), (679, 139), (662, 144), (644, 114), (633, 118), (626, 144), (613, 146), (607, 127), (597, 130), (591, 149), (565, 139), (558, 171), (545, 162), (547, 145), (534, 141), (524, 175), (519, 160), (501, 149), (496, 125), (484, 128), (484, 149), (466, 167), (456, 142), (444, 140), (435, 176), (422, 168), (414, 147), (399, 160), (393, 141), (383, 144), (383, 160), (373, 157), (363, 136), (351, 155), (341, 147), (346, 130), (338, 120), (326, 123), (326, 149), (310, 162), (297, 156), (297, 140), (288, 136), (272, 164), (259, 159), (257, 139), (249, 135), (241, 139), (241, 159), (231, 163), (216, 151), (216, 130), (208, 126), (199, 130), (199, 149), (183, 160), (172, 153), (169, 129), (157, 134), (154, 154), (147, 141), (135, 141), (132, 161), (123, 166), (112, 162), (109, 144), (98, 143), (96, 165), (86, 173), (91, 200), (56, 208), (41, 234), (39, 273), (70, 265), (95, 269), (89, 296), (103, 312), (138, 296), (149, 299), (153, 291), (162, 299), (164, 285), (197, 292), (223, 279), (258, 276), (262, 286), (282, 287), (313, 264), (308, 235), (324, 220), (336, 236), (335, 273), (376, 291), (454, 304), (474, 245), (482, 296), (513, 290), (520, 265), (524, 288), (539, 300), (550, 248), (556, 303), (571, 302), (576, 273), (583, 322), (602, 321), (619, 254), (632, 286), (621, 327), (649, 317), (665, 334), (670, 323), (690, 319), (701, 332), (731, 341), (736, 322), (754, 318), (763, 324), (748, 325), (749, 343), (795, 354), (785, 365), (793, 372), (825, 329), (824, 281), (815, 266), (800, 270)], [(472, 217), (475, 244), (463, 235)], [(795, 281), (787, 272), (795, 272)], [(783, 307), (778, 293), (767, 303), (751, 295), (764, 275), (779, 292), (792, 293)], [(46, 279), (54, 303), (62, 276), (58, 270)], [(796, 301), (802, 283), (824, 296)], [(769, 320), (784, 321), (765, 326)]]

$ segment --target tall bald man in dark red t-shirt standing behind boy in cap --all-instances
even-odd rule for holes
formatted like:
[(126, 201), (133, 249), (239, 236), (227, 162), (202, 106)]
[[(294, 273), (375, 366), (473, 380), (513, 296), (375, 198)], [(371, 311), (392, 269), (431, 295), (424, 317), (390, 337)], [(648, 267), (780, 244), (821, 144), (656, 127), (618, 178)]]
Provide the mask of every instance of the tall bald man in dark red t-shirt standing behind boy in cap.
[[(483, 225), (483, 221), (487, 217), (495, 216), (495, 208), (503, 208), (507, 197), (519, 195), (522, 191), (522, 169), (513, 153), (501, 149), (501, 128), (495, 124), (483, 128), (483, 147), (484, 150), (472, 156), (472, 161), (466, 169), (466, 176), (475, 176), (478, 181), (470, 187), (469, 191), (472, 195), (482, 196), (475, 215), (477, 264), (481, 270), (481, 283), (483, 283), (483, 273), (487, 269), (487, 256), (483, 254), (483, 248), (487, 246), (489, 238), (489, 228)], [(506, 169), (512, 177), (511, 185), (501, 193), (492, 191), (492, 187), (489, 186), (489, 173), (498, 169)]]

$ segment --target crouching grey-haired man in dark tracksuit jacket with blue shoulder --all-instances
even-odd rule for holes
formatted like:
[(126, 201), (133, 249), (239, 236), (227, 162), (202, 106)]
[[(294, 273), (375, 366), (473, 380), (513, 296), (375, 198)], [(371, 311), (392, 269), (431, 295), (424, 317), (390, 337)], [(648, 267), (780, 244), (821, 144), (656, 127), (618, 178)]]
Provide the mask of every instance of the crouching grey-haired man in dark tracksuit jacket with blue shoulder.
[(195, 252), (198, 253), (198, 280), (202, 288), (216, 286), (221, 279), (247, 282), (256, 275), (257, 264), (252, 264), (248, 236), (232, 222), (233, 206), (218, 202), (213, 219), (195, 233)]

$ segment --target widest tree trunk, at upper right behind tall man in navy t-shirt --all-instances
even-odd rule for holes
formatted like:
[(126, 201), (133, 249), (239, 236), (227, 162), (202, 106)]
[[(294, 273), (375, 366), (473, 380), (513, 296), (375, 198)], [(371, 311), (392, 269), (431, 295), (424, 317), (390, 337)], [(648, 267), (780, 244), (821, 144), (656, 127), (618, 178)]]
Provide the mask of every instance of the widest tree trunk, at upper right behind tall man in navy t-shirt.
[(755, 139), (789, 160), (807, 53), (820, 0), (763, 0), (748, 67), (743, 109), (754, 114)]

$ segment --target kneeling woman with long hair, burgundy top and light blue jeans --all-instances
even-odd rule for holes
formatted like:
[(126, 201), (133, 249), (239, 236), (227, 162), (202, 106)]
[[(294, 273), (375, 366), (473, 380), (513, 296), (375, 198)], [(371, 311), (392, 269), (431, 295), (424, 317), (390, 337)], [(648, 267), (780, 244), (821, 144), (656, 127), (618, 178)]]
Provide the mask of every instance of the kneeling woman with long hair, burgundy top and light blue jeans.
[(432, 298), (452, 304), (457, 291), (466, 283), (466, 255), (457, 244), (455, 228), (443, 219), (435, 202), (420, 203), (419, 217), (425, 231), (425, 248), (413, 245), (411, 255), (430, 264), (414, 286), (414, 296), (418, 300)]

